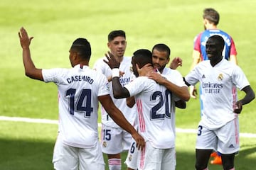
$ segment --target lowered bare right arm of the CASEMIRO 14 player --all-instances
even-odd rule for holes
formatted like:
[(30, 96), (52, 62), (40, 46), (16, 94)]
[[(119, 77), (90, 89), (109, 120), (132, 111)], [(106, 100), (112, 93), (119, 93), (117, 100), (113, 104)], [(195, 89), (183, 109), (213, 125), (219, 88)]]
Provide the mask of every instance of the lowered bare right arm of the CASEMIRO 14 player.
[(114, 106), (110, 95), (99, 96), (98, 99), (114, 122), (132, 135), (134, 140), (137, 142), (138, 149), (143, 149), (145, 147), (144, 138), (139, 135), (137, 130), (135, 130), (134, 127), (127, 121), (122, 112), (119, 111), (116, 106)]

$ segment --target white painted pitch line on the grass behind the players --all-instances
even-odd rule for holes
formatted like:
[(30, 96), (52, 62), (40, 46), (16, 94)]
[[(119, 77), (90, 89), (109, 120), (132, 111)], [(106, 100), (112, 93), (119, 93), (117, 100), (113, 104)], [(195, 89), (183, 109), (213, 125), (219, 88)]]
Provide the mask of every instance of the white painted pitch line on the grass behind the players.
[[(0, 120), (12, 121), (12, 122), (26, 122), (26, 123), (46, 123), (46, 124), (58, 125), (58, 120), (50, 120), (50, 119), (20, 118), (20, 117), (0, 116)], [(98, 123), (98, 126), (101, 127), (101, 123)], [(197, 130), (196, 129), (176, 128), (176, 132), (181, 132), (181, 133), (197, 133)], [(256, 138), (256, 134), (255, 133), (240, 133), (240, 137)]]

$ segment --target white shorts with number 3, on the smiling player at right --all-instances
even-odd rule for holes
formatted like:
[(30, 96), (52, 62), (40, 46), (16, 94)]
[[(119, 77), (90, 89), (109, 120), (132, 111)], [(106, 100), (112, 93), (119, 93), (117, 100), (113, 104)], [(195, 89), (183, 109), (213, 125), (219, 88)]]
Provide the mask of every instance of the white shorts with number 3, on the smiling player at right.
[(217, 130), (208, 130), (201, 122), (198, 125), (196, 149), (214, 149), (221, 154), (233, 154), (240, 149), (239, 121), (231, 120)]

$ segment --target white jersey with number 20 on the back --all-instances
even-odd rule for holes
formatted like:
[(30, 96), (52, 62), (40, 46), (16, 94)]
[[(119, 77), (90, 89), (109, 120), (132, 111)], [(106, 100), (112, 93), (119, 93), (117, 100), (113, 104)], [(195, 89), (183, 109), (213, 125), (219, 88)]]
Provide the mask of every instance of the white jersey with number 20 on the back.
[(139, 133), (156, 148), (175, 147), (169, 103), (174, 103), (165, 86), (147, 77), (137, 77), (124, 86), (130, 96), (135, 96), (139, 120)]

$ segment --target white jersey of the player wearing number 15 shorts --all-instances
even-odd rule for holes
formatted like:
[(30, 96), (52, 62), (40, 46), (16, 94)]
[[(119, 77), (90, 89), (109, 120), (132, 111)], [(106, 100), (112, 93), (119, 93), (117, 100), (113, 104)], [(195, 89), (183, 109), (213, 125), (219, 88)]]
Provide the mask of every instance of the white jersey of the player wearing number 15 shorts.
[[(112, 69), (103, 61), (107, 60), (107, 58), (102, 58), (100, 60), (97, 60), (93, 66), (93, 69), (97, 70), (97, 72), (102, 72), (102, 74), (105, 74), (106, 77), (112, 77)], [(125, 84), (128, 84), (132, 79), (134, 79), (134, 74), (131, 70), (132, 64), (132, 57), (124, 57), (122, 62), (120, 63), (119, 70), (121, 72), (124, 72), (124, 75), (119, 78), (120, 84), (124, 86)], [(110, 96), (112, 96), (112, 100), (114, 101), (114, 105), (119, 108), (120, 111), (124, 114), (124, 117), (131, 123), (134, 124), (134, 120), (136, 117), (136, 109), (135, 107), (129, 108), (127, 106), (126, 98), (119, 98), (116, 99), (113, 96), (112, 91), (112, 81), (110, 81)], [(113, 128), (119, 128), (119, 125), (114, 123), (114, 120), (110, 118), (110, 116), (107, 114), (105, 109), (101, 108), (102, 113), (102, 123), (105, 125), (108, 125)]]

